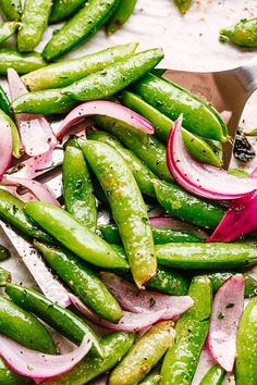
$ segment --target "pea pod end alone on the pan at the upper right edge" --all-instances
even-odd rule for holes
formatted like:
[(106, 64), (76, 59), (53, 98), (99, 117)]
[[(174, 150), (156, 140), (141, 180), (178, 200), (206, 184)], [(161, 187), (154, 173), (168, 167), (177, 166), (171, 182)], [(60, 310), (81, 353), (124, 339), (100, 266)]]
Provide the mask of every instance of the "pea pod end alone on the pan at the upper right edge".
[(220, 30), (221, 38), (229, 38), (241, 47), (257, 47), (257, 17), (243, 18), (232, 27)]

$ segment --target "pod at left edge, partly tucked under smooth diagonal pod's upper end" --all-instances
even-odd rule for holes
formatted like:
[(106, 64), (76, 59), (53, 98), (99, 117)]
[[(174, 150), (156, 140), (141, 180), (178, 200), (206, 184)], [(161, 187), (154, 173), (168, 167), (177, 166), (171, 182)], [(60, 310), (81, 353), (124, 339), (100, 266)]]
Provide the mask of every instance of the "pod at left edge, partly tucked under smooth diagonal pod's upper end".
[(24, 207), (25, 202), (0, 189), (0, 218), (32, 238), (50, 241), (50, 237), (27, 219)]

